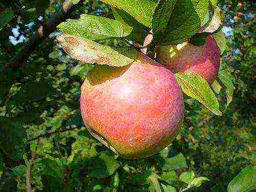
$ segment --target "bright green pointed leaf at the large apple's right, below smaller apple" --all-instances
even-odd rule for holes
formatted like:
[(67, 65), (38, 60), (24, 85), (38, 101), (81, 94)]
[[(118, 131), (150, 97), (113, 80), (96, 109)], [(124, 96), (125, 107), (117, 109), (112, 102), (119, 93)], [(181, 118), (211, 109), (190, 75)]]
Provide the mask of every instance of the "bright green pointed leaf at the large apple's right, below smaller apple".
[(194, 72), (178, 72), (175, 76), (186, 95), (201, 102), (215, 115), (222, 115), (219, 110), (219, 102), (203, 77)]

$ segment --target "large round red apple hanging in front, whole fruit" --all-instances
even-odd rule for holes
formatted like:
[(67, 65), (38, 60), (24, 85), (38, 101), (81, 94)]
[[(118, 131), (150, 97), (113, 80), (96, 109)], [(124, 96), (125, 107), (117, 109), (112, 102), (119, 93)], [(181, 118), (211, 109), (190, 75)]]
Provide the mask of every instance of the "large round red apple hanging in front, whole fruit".
[(95, 66), (81, 87), (81, 114), (89, 132), (125, 159), (161, 151), (179, 132), (184, 116), (172, 72), (139, 55), (129, 66)]

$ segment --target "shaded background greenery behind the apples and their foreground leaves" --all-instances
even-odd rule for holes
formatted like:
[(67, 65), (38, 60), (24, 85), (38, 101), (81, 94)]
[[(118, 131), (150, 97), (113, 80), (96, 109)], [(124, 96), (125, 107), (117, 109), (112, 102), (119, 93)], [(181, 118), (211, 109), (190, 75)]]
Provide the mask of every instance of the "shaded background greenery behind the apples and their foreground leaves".
[[(0, 191), (154, 191), (159, 187), (175, 191), (170, 185), (186, 189), (194, 175), (209, 181), (188, 190), (226, 191), (243, 168), (252, 170), (256, 98), (252, 1), (219, 2), (226, 11), (222, 69), (231, 74), (228, 79), (235, 87), (232, 95), (220, 80), (212, 85), (223, 116), (214, 116), (185, 97), (182, 132), (161, 153), (141, 160), (115, 156), (86, 131), (79, 95), (92, 66), (65, 55), (55, 42), (56, 25), (51, 28), (54, 22), (82, 13), (114, 18), (111, 7), (99, 1), (73, 1), (77, 4), (63, 14), (62, 3), (0, 3), (0, 23), (9, 22), (0, 25)], [(44, 30), (38, 33), (40, 26)], [(141, 32), (138, 41), (145, 35)]]

